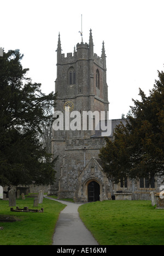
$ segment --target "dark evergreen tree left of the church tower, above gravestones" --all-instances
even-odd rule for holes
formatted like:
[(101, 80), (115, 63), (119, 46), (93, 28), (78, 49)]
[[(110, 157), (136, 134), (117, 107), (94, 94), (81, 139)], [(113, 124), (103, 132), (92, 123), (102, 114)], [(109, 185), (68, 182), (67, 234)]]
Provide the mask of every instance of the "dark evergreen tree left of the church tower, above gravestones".
[(40, 142), (40, 123), (52, 119), (44, 108), (54, 106), (56, 95), (26, 77), (22, 57), (19, 50), (0, 57), (0, 184), (50, 184), (54, 162)]

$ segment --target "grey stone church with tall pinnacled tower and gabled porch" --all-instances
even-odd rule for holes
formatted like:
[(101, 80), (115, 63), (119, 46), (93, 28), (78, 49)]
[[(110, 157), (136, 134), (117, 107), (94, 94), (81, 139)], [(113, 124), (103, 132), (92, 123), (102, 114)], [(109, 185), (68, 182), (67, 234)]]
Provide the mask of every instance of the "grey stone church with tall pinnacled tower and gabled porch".
[[(56, 181), (49, 194), (57, 191), (59, 198), (74, 198), (75, 201), (91, 202), (116, 199), (150, 199), (150, 191), (157, 191), (160, 182), (126, 179), (114, 184), (106, 177), (98, 159), (99, 149), (104, 146), (104, 137), (93, 129), (82, 129), (82, 113), (108, 112), (107, 67), (104, 42), (101, 57), (93, 51), (92, 31), (89, 43), (78, 43), (73, 53), (62, 54), (60, 34), (57, 45), (57, 78), (55, 91), (57, 101), (55, 111), (65, 117), (66, 106), (69, 113), (81, 113), (81, 129), (54, 131), (52, 154), (57, 158)], [(64, 119), (65, 120), (65, 119)], [(89, 121), (89, 120), (88, 120)], [(112, 133), (121, 119), (112, 120)], [(123, 120), (124, 121), (124, 120)], [(112, 138), (112, 134), (110, 135)], [(158, 190), (159, 191), (159, 190)], [(118, 192), (118, 193), (116, 193)]]

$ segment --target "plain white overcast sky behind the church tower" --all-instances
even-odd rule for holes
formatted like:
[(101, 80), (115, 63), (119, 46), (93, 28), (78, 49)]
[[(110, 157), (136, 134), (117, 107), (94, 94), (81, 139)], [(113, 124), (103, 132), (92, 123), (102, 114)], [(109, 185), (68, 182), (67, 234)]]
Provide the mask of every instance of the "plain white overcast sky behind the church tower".
[(153, 88), (164, 64), (163, 0), (0, 0), (0, 46), (20, 49), (28, 77), (54, 91), (58, 32), (62, 53), (73, 53), (92, 29), (94, 52), (107, 55), (109, 118), (127, 114), (140, 87)]

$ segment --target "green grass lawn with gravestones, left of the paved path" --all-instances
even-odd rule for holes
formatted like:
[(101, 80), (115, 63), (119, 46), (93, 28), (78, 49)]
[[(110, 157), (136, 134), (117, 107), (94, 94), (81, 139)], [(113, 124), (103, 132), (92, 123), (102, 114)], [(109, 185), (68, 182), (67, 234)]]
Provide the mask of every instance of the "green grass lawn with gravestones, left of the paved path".
[[(65, 208), (59, 202), (43, 199), (38, 207), (33, 207), (33, 198), (17, 199), (16, 206), (29, 209), (44, 208), (44, 213), (10, 212), (9, 202), (0, 200), (0, 215), (15, 216), (21, 221), (0, 222), (0, 245), (52, 245), (52, 235), (58, 215)], [(13, 207), (16, 208), (16, 207)]]

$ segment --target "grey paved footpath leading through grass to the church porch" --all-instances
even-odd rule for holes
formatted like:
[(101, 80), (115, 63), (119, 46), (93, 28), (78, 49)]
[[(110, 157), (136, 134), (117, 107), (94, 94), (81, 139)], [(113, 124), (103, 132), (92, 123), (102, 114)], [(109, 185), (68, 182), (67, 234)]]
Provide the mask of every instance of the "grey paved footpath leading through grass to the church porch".
[(72, 203), (45, 197), (67, 205), (61, 211), (56, 223), (53, 245), (98, 245), (79, 217), (78, 208), (83, 203)]

